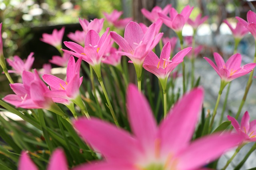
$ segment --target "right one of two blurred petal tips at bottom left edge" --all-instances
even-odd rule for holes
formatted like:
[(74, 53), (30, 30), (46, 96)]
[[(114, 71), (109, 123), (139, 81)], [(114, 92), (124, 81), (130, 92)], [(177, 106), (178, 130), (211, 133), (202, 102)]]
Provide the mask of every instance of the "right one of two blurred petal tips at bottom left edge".
[(68, 162), (62, 149), (54, 150), (47, 170), (68, 170)]

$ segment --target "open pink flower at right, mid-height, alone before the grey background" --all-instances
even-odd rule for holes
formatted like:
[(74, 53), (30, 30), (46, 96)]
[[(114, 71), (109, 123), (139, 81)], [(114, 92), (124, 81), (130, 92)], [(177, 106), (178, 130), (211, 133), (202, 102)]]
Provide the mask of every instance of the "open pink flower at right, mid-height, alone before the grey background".
[(230, 82), (235, 78), (248, 74), (256, 65), (255, 63), (249, 63), (245, 64), (244, 66), (240, 66), (242, 57), (239, 53), (232, 55), (226, 63), (218, 53), (213, 53), (213, 56), (216, 65), (207, 57), (204, 57), (204, 59), (206, 59), (206, 61), (214, 68), (220, 78), (225, 82)]

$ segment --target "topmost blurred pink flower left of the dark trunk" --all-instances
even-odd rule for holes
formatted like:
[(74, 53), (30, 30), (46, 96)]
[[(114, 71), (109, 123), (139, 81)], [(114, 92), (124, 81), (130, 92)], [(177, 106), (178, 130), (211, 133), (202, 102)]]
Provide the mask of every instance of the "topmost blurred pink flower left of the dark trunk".
[(123, 12), (119, 12), (118, 10), (113, 10), (110, 14), (103, 12), (103, 14), (106, 17), (106, 20), (117, 28), (125, 28), (126, 25), (132, 21), (132, 18), (119, 19)]

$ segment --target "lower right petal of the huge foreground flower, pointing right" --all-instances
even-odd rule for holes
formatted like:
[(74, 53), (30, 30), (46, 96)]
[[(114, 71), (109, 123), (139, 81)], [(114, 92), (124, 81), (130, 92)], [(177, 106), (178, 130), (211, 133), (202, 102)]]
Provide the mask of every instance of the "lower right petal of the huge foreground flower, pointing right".
[(193, 141), (189, 147), (178, 155), (177, 169), (194, 169), (215, 160), (228, 149), (242, 142), (239, 134), (212, 134)]

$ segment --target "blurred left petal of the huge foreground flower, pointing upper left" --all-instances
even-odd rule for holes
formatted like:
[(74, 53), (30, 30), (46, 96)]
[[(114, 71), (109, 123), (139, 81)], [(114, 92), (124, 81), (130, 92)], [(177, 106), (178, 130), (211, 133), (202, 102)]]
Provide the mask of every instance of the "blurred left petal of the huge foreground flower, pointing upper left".
[(140, 156), (138, 141), (112, 124), (94, 118), (80, 118), (73, 124), (82, 138), (100, 151), (108, 161), (134, 162)]

